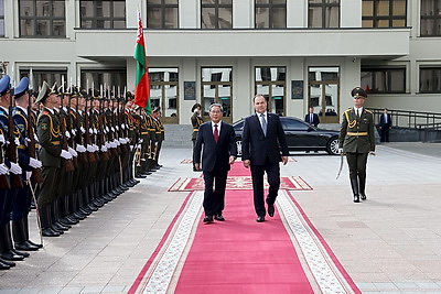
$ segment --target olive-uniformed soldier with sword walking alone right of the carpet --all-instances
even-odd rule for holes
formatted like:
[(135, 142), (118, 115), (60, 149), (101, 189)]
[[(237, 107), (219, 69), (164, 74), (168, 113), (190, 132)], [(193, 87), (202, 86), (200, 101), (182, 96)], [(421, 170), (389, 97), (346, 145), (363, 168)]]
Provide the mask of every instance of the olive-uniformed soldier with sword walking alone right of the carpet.
[(365, 200), (366, 164), (369, 153), (375, 154), (374, 116), (363, 107), (366, 91), (356, 87), (351, 91), (354, 107), (343, 113), (340, 131), (340, 152), (346, 155), (354, 203)]

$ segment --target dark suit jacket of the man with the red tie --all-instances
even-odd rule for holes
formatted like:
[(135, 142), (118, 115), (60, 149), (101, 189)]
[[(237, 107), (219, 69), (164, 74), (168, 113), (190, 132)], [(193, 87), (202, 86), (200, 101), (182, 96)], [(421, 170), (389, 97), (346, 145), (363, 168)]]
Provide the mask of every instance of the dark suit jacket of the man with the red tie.
[(235, 142), (236, 133), (232, 124), (222, 122), (217, 143), (214, 141), (212, 121), (200, 127), (196, 144), (194, 146), (193, 162), (201, 163), (204, 172), (213, 172), (214, 168), (229, 171), (229, 156), (237, 156)]

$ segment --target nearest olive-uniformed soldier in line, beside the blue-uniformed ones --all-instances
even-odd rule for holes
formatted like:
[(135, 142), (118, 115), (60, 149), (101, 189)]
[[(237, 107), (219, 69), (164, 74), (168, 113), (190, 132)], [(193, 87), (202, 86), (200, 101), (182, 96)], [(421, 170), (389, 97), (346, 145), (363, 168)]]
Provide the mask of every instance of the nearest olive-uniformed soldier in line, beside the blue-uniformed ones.
[(45, 237), (58, 237), (64, 233), (65, 227), (57, 221), (57, 183), (60, 183), (60, 170), (62, 160), (72, 160), (72, 154), (62, 146), (60, 117), (55, 113), (55, 107), (60, 105), (60, 92), (54, 85), (52, 88), (43, 81), (35, 102), (43, 104), (43, 110), (36, 121), (36, 131), (40, 143), (40, 160), (43, 163), (39, 195), (39, 209), (42, 232)]

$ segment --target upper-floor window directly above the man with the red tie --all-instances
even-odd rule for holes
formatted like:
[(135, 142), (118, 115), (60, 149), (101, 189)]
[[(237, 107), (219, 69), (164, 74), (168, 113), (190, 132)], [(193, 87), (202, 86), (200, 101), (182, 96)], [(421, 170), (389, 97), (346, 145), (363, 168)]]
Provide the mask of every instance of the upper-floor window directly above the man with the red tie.
[(202, 0), (201, 1), (202, 29), (232, 29), (233, 1), (232, 0)]

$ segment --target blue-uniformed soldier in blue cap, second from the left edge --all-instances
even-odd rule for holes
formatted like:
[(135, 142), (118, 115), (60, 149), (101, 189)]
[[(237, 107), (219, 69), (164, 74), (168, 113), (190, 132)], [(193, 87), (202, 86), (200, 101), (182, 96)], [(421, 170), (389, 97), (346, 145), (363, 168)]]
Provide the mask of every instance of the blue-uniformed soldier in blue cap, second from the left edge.
[[(31, 208), (32, 194), (35, 182), (41, 183), (41, 161), (36, 159), (35, 153), (35, 127), (32, 119), (30, 106), (29, 79), (23, 77), (14, 88), (15, 107), (13, 109), (14, 123), (19, 131), (18, 154), (19, 164), (23, 170), (22, 179), (24, 185), (18, 188), (12, 207), (12, 236), (15, 248), (24, 251), (35, 251), (42, 247), (29, 240), (28, 215)], [(37, 177), (32, 177), (33, 172)], [(34, 175), (35, 175), (34, 173)], [(33, 182), (33, 183), (32, 183)], [(32, 189), (32, 190), (31, 190)]]

